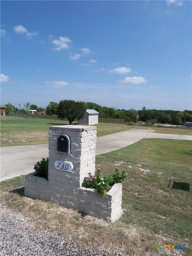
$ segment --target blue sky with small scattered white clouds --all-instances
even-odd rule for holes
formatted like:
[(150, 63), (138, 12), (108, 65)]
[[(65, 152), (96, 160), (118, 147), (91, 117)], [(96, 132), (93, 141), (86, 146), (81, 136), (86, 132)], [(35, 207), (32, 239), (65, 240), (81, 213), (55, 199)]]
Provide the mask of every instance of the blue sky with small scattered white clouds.
[(1, 105), (191, 110), (192, 1), (2, 1)]

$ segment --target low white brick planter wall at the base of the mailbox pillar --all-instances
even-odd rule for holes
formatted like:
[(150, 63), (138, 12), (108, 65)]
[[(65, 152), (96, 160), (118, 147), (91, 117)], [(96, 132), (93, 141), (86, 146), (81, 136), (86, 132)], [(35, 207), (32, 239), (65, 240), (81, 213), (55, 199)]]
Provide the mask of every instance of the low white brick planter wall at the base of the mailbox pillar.
[(25, 196), (49, 201), (65, 207), (78, 209), (96, 218), (114, 222), (123, 213), (121, 209), (122, 183), (114, 184), (105, 197), (97, 191), (81, 187), (71, 196), (64, 195), (62, 189), (55, 189), (45, 178), (35, 176), (35, 172), (25, 177)]

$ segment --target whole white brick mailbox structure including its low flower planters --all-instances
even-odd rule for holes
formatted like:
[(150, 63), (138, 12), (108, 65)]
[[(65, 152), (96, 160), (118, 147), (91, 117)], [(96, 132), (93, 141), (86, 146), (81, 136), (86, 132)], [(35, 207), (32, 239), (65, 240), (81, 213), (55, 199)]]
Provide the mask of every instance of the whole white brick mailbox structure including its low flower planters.
[(94, 217), (115, 221), (122, 215), (122, 184), (115, 184), (103, 198), (81, 187), (88, 173), (95, 173), (97, 130), (94, 126), (49, 127), (48, 180), (29, 174), (25, 195), (74, 208)]

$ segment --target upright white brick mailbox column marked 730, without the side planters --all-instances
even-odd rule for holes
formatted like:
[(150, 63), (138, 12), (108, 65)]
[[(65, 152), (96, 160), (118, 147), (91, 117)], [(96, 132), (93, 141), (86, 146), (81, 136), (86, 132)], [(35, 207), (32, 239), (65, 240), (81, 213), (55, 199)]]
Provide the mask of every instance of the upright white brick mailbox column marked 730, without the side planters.
[[(49, 128), (49, 185), (54, 193), (62, 192), (62, 204), (78, 208), (79, 189), (84, 177), (95, 172), (96, 127), (62, 125)], [(62, 137), (68, 137), (68, 150), (59, 150)], [(69, 141), (70, 140), (70, 141)], [(66, 148), (65, 146), (63, 148)], [(73, 168), (69, 168), (72, 165)]]

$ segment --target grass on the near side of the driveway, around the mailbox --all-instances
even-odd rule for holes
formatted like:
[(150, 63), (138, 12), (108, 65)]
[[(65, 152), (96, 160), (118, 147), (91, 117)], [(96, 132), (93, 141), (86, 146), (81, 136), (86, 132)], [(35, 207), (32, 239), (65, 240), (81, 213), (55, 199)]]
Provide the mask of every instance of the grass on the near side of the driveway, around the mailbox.
[[(25, 197), (24, 176), (1, 182), (1, 203), (30, 217), (38, 229), (58, 232), (76, 240), (79, 246), (108, 249), (111, 255), (119, 251), (130, 256), (191, 256), (191, 153), (191, 141), (142, 139), (96, 156), (96, 167), (101, 168), (102, 175), (114, 172), (116, 166), (127, 173), (124, 214), (114, 223)], [(186, 244), (187, 249), (160, 252), (158, 244)]]

